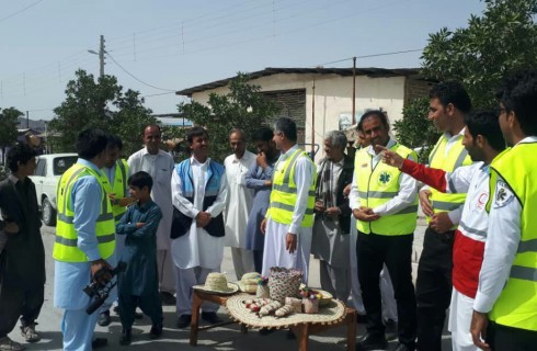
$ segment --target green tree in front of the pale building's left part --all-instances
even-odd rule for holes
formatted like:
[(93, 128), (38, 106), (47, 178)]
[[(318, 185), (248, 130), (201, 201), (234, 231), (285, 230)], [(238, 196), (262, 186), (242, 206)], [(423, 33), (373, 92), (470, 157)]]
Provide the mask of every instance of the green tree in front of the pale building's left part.
[(210, 157), (219, 162), (231, 154), (228, 137), (232, 128), (244, 131), (247, 138), (250, 138), (260, 125), (270, 122), (279, 112), (278, 105), (261, 93), (261, 87), (248, 81), (249, 76), (239, 72), (229, 82), (229, 93), (212, 93), (207, 105), (195, 101), (178, 105), (179, 112), (186, 118), (207, 128)]

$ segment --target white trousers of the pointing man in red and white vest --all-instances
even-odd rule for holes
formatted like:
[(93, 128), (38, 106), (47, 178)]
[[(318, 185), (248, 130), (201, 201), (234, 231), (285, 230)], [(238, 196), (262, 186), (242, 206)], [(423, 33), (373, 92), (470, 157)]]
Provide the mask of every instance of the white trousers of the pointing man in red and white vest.
[(473, 298), (459, 293), (455, 287), (452, 292), (449, 306), (449, 322), (447, 329), (452, 332), (453, 351), (478, 351), (470, 333)]

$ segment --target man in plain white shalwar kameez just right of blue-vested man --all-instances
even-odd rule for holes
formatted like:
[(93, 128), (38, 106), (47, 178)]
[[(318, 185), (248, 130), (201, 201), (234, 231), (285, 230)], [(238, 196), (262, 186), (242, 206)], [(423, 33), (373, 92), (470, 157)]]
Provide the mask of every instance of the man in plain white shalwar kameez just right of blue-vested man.
[(229, 134), (229, 145), (233, 154), (226, 157), (226, 239), (225, 245), (231, 248), (235, 274), (240, 280), (244, 273), (253, 272), (253, 251), (245, 249), (247, 226), (253, 204), (253, 189), (247, 188), (245, 177), (250, 167), (255, 163), (255, 155), (247, 150), (247, 139), (241, 129)]

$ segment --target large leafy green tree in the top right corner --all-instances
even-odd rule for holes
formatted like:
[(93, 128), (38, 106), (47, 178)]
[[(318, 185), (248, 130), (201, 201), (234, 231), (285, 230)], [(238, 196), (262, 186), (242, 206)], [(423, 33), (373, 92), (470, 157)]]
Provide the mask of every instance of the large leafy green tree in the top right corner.
[(461, 81), (473, 106), (495, 106), (494, 90), (506, 75), (537, 68), (537, 0), (484, 0), (468, 27), (430, 34), (423, 75)]

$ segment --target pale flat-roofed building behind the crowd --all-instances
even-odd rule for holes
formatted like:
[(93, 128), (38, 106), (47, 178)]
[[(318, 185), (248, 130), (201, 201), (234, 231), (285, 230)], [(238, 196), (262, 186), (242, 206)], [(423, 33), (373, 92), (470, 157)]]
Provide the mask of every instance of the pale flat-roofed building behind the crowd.
[[(321, 144), (328, 131), (347, 129), (368, 110), (384, 111), (393, 124), (402, 116), (404, 104), (426, 95), (431, 84), (418, 68), (356, 68), (353, 118), (352, 68), (265, 68), (250, 77), (250, 83), (260, 86), (266, 97), (282, 106), (279, 116), (297, 122), (299, 141), (306, 145)], [(233, 78), (183, 89), (176, 94), (206, 104), (210, 93), (228, 93)]]

